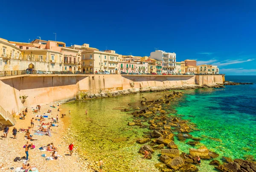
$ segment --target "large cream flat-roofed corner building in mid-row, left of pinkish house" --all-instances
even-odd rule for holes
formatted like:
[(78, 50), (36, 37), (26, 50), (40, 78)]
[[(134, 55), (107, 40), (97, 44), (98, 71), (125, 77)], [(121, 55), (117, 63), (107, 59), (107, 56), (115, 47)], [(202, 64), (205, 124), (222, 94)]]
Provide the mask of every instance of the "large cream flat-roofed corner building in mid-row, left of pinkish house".
[(119, 54), (114, 50), (85, 50), (81, 53), (82, 72), (103, 72), (117, 74)]

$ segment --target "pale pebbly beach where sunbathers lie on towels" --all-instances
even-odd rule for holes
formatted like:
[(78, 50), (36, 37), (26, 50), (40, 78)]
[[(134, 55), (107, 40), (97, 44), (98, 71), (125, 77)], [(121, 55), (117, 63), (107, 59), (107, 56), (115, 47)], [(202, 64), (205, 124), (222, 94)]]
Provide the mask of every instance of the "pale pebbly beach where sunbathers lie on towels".
[[(66, 143), (64, 140), (64, 135), (68, 132), (67, 126), (64, 125), (64, 119), (69, 118), (68, 114), (66, 115), (66, 117), (61, 118), (61, 112), (58, 112), (58, 106), (56, 106), (56, 108), (52, 108), (49, 105), (41, 106), (41, 112), (38, 112), (36, 114), (32, 112), (32, 107), (27, 108), (28, 114), (26, 115), (25, 120), (16, 119), (16, 125), (9, 127), (9, 133), (7, 138), (3, 138), (3, 131), (1, 131), (0, 171), (14, 172), (17, 167), (22, 167), (22, 162), (15, 162), (14, 159), (16, 157), (26, 156), (25, 148), (23, 148), (23, 146), (26, 144), (27, 141), (29, 141), (29, 144), (33, 143), (35, 145), (35, 149), (29, 149), (28, 163), (30, 163), (32, 166), (37, 166), (39, 172), (88, 171), (86, 168), (86, 162), (79, 163), (79, 156), (76, 152), (75, 144), (73, 155), (67, 155), (70, 154), (70, 152), (68, 150), (69, 143)], [(12, 129), (14, 127), (17, 130), (29, 129), (28, 127), (30, 127), (30, 120), (32, 118), (38, 119), (38, 117), (35, 117), (35, 115), (43, 115), (44, 113), (47, 113), (48, 109), (52, 110), (52, 115), (48, 115), (48, 118), (44, 118), (46, 119), (44, 122), (51, 122), (51, 119), (49, 118), (56, 118), (57, 114), (59, 116), (59, 120), (57, 123), (58, 127), (51, 126), (50, 128), (52, 137), (49, 137), (48, 135), (34, 135), (35, 130), (39, 129), (40, 125), (39, 121), (35, 120), (34, 128), (30, 129), (29, 131), (31, 135), (33, 135), (32, 138), (37, 140), (30, 141), (24, 138), (25, 133), (23, 132), (17, 132), (17, 139), (13, 138)], [(58, 148), (58, 155), (60, 155), (61, 157), (58, 157), (57, 160), (47, 161), (44, 157), (41, 157), (42, 154), (46, 154), (47, 157), (51, 156), (51, 152), (41, 151), (39, 149), (41, 146), (47, 146), (47, 144), (49, 143), (54, 143), (54, 145)], [(83, 163), (83, 165), (81, 165), (81, 163)]]

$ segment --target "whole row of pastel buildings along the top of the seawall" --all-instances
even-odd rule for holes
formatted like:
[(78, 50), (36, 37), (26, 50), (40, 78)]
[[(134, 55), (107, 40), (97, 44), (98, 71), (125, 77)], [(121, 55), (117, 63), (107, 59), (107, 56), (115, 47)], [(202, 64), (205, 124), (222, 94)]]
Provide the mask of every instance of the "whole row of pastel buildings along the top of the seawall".
[(176, 61), (176, 54), (156, 50), (150, 56), (117, 54), (114, 50), (101, 51), (89, 44), (66, 46), (52, 40), (33, 40), (30, 43), (0, 38), (0, 71), (41, 70), (80, 71), (84, 73), (108, 71), (111, 74), (156, 73), (218, 74), (217, 66), (196, 65), (196, 60)]

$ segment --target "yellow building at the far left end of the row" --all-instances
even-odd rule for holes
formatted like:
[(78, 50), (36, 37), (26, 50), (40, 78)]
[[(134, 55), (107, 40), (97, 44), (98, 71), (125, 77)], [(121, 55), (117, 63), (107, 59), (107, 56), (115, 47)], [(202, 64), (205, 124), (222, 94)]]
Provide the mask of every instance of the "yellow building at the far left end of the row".
[(20, 59), (20, 57), (21, 49), (8, 40), (0, 38), (0, 71), (6, 70), (6, 65), (11, 63), (11, 59)]

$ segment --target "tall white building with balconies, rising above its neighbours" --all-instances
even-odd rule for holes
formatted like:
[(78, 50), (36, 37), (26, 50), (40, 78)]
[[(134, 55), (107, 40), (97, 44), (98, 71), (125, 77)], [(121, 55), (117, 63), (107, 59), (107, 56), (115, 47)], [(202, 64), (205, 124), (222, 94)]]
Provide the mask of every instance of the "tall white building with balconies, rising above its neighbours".
[(156, 50), (150, 53), (150, 58), (162, 61), (163, 73), (175, 73), (176, 68), (176, 54), (165, 52), (161, 50)]

